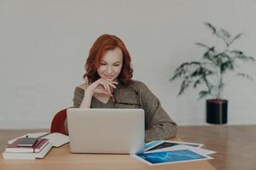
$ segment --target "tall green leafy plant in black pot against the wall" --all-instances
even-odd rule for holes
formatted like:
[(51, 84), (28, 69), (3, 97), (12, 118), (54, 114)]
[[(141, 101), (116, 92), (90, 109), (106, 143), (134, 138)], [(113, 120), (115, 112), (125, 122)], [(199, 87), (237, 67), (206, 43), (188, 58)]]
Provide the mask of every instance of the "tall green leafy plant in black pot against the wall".
[[(200, 88), (199, 99), (208, 97), (207, 122), (223, 124), (227, 122), (228, 110), (228, 100), (223, 99), (224, 75), (229, 71), (235, 71), (238, 61), (255, 61), (255, 59), (241, 50), (230, 48), (233, 42), (241, 37), (241, 33), (233, 37), (229, 31), (218, 29), (208, 22), (204, 24), (212, 31), (218, 43), (212, 46), (201, 42), (195, 43), (205, 49), (201, 59), (179, 65), (170, 81), (182, 79), (178, 95), (183, 94), (184, 90), (191, 86)], [(236, 75), (253, 80), (245, 73), (239, 72)]]

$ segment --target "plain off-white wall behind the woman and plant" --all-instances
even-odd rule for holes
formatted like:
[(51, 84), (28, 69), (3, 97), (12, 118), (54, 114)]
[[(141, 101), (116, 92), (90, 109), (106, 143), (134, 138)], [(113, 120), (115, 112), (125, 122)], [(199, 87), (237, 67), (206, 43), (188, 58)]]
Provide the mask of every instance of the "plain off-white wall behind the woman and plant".
[[(179, 125), (203, 125), (205, 101), (169, 82), (183, 61), (199, 59), (195, 42), (212, 41), (204, 21), (234, 34), (235, 46), (256, 56), (256, 2), (0, 0), (0, 128), (49, 127), (56, 111), (73, 105), (92, 43), (119, 36), (132, 56), (134, 78), (148, 84)], [(255, 64), (243, 67), (254, 79)], [(255, 124), (256, 80), (231, 79), (225, 88), (229, 124)]]

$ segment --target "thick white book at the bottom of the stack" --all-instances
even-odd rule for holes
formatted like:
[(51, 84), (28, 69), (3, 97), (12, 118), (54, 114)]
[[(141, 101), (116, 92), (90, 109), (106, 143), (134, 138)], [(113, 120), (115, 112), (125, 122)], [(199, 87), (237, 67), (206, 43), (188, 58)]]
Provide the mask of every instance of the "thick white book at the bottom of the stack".
[(51, 143), (47, 143), (43, 150), (40, 152), (29, 153), (29, 152), (3, 152), (3, 159), (15, 159), (15, 160), (35, 160), (36, 158), (42, 159), (49, 150), (52, 148)]

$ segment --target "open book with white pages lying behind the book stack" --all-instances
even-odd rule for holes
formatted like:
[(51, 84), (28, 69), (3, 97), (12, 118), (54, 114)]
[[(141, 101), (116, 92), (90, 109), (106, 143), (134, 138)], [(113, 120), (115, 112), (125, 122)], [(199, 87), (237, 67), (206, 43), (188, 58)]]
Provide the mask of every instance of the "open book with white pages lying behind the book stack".
[(61, 133), (46, 133), (46, 132), (42, 132), (42, 133), (26, 133), (18, 138), (15, 139), (10, 139), (8, 141), (8, 144), (12, 144), (16, 139), (19, 138), (42, 138), (42, 139), (49, 139), (49, 142), (51, 144), (53, 144), (54, 147), (60, 147), (63, 144), (67, 144), (69, 142), (69, 137), (65, 134), (61, 134)]

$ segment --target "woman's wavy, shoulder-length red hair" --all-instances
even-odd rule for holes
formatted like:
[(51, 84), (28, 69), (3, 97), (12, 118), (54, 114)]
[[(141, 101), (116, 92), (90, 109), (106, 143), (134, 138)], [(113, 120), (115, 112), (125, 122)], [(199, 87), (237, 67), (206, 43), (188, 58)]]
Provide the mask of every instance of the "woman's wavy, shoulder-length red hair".
[(118, 80), (124, 85), (131, 82), (133, 72), (131, 69), (131, 56), (125, 47), (125, 43), (119, 37), (108, 34), (103, 34), (101, 37), (98, 37), (90, 48), (89, 56), (84, 66), (84, 78), (87, 78), (88, 82), (95, 82), (100, 78), (97, 73), (97, 68), (101, 64), (102, 57), (108, 50), (113, 50), (114, 48), (120, 48), (123, 52), (123, 67)]

